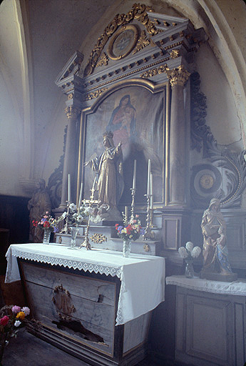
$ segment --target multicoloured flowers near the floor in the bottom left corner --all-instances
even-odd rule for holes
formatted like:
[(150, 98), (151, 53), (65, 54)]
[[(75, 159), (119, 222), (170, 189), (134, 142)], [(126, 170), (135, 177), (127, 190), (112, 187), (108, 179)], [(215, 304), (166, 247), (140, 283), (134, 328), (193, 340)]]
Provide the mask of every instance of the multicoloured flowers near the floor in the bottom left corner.
[(11, 337), (16, 337), (21, 327), (24, 327), (28, 320), (26, 316), (30, 314), (29, 307), (19, 307), (17, 305), (6, 305), (0, 310), (0, 365), (4, 355), (4, 349), (8, 345)]

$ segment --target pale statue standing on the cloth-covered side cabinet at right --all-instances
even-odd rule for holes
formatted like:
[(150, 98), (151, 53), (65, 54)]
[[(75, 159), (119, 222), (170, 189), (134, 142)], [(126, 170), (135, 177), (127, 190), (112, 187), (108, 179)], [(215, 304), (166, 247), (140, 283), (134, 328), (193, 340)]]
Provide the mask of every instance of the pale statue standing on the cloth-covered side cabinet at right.
[(208, 280), (236, 280), (237, 275), (232, 273), (228, 261), (226, 224), (220, 212), (219, 199), (211, 199), (209, 207), (203, 213), (201, 228), (203, 233), (201, 277)]

